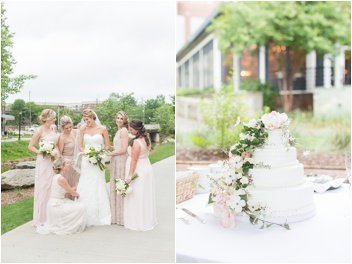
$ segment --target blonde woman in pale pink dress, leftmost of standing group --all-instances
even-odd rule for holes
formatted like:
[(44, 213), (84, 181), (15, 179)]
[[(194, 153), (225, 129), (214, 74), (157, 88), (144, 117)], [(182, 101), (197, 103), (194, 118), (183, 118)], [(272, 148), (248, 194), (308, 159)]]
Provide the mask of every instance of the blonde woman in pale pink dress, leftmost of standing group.
[(43, 156), (35, 147), (41, 141), (52, 142), (56, 146), (58, 134), (54, 130), (56, 113), (51, 109), (44, 109), (40, 116), (41, 126), (34, 133), (29, 142), (28, 149), (37, 154), (35, 163), (35, 180), (34, 180), (34, 207), (33, 207), (33, 225), (38, 226), (46, 221), (46, 206), (50, 196), (50, 187), (54, 172), (51, 158)]

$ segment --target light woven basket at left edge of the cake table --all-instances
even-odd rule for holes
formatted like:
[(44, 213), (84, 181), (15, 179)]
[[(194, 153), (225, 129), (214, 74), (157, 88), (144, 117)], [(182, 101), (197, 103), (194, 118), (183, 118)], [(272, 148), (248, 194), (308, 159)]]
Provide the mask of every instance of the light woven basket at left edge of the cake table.
[(191, 199), (196, 190), (199, 175), (189, 172), (176, 177), (176, 204)]

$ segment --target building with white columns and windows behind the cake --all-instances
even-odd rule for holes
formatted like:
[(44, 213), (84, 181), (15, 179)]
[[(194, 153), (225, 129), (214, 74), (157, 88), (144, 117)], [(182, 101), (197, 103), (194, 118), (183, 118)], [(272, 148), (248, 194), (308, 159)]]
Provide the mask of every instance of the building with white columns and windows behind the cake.
[[(206, 31), (219, 14), (215, 9), (178, 50), (177, 87), (218, 89), (224, 84), (233, 83), (234, 90), (238, 91), (241, 82), (257, 79), (262, 83), (273, 84), (282, 94), (283, 73), (279, 70), (275, 57), (284, 56), (282, 51), (286, 47), (269, 43), (262, 47), (253, 45), (241, 56), (234, 55), (231, 50), (221, 52), (216, 35)], [(287, 60), (283, 58), (283, 61), (286, 61), (287, 66)], [(321, 88), (338, 89), (351, 85), (350, 47), (341, 47), (335, 57), (311, 52), (302, 59), (300, 54), (293, 53), (289, 66), (295, 70), (295, 95), (314, 94)], [(348, 94), (342, 95), (341, 99), (345, 96)]]

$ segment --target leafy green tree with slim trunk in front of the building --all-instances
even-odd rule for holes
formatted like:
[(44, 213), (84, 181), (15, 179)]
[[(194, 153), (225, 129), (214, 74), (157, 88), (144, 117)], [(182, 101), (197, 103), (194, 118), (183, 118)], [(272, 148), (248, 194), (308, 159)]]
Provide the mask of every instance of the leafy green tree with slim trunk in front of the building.
[[(303, 57), (311, 51), (334, 54), (338, 45), (350, 45), (350, 19), (350, 2), (236, 2), (221, 5), (208, 30), (215, 31), (223, 51), (240, 54), (252, 45), (274, 43), (285, 47), (289, 59), (291, 50)], [(292, 108), (295, 71), (283, 71), (285, 111)]]

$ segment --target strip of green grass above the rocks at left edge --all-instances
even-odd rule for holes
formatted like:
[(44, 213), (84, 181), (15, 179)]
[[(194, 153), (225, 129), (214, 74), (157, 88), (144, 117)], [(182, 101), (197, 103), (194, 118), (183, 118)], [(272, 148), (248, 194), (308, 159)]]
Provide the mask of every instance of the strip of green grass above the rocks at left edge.
[(1, 162), (21, 158), (34, 157), (35, 154), (28, 150), (29, 141), (1, 142)]

